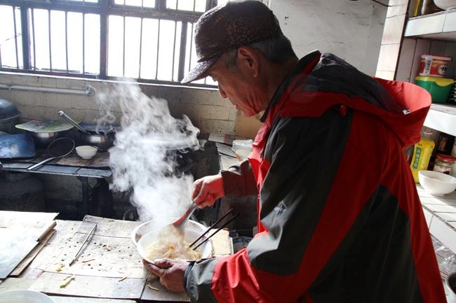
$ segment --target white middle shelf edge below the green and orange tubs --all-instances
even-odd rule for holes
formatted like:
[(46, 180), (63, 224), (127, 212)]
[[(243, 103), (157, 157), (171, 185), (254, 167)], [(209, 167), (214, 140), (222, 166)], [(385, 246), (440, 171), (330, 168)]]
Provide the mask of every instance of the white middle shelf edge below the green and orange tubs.
[(456, 105), (431, 104), (424, 126), (456, 136)]

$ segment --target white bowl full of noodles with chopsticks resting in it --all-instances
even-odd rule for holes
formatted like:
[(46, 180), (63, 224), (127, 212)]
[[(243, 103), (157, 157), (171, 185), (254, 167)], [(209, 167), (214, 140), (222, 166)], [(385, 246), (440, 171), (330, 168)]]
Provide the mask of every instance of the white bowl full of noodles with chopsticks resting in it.
[[(172, 225), (149, 231), (140, 237), (136, 245), (138, 253), (147, 262), (153, 262), (159, 258), (189, 261), (210, 258), (213, 252), (210, 240), (196, 248), (196, 250), (189, 248), (189, 244), (196, 240), (204, 231), (204, 229), (192, 227), (194, 225), (187, 224), (184, 234)], [(206, 238), (203, 237), (200, 241), (204, 239)]]

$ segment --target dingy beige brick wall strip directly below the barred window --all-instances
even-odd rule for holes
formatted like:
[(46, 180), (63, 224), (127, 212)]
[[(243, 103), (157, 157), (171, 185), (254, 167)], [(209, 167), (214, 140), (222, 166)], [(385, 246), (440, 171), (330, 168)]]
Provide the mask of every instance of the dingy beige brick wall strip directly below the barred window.
[[(90, 85), (98, 91), (107, 90), (112, 85), (124, 85), (98, 80), (53, 78), (13, 73), (0, 73), (0, 84), (76, 90), (85, 90), (86, 85)], [(222, 99), (217, 90), (195, 90), (188, 87), (159, 85), (141, 85), (141, 89), (147, 96), (168, 100), (168, 106), (173, 116), (179, 118), (182, 114), (188, 115), (194, 125), (201, 129), (201, 132), (234, 134), (236, 108), (228, 100)], [(58, 111), (65, 111), (75, 120), (83, 122), (95, 122), (100, 115), (97, 102), (98, 94), (86, 97), (72, 94), (0, 90), (0, 98), (13, 101), (25, 120), (56, 120), (58, 119)], [(118, 119), (121, 117), (119, 108), (114, 108), (114, 114)]]

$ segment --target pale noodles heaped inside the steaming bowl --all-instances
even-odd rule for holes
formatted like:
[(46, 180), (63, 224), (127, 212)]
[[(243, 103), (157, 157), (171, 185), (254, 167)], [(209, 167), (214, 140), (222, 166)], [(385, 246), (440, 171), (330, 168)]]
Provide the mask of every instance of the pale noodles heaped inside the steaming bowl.
[(184, 241), (184, 235), (173, 225), (163, 228), (159, 232), (159, 239), (152, 243), (146, 251), (147, 259), (168, 258), (171, 260), (199, 260), (201, 253), (189, 248)]

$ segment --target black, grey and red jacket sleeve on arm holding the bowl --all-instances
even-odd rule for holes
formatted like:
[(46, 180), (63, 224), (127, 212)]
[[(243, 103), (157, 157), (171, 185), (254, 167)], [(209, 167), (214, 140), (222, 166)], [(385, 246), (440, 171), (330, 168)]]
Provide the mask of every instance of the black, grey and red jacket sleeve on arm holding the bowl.
[[(307, 251), (321, 245), (312, 237), (344, 153), (350, 116), (328, 111), (318, 119), (276, 123), (264, 150), (271, 166), (260, 190), (267, 232), (235, 255), (195, 264), (187, 280), (192, 302), (295, 302), (307, 293), (322, 270)], [(328, 254), (321, 258), (330, 258), (330, 249)]]

